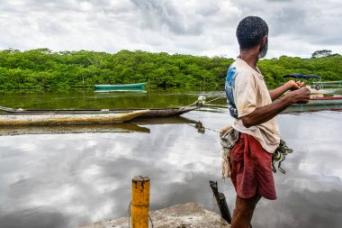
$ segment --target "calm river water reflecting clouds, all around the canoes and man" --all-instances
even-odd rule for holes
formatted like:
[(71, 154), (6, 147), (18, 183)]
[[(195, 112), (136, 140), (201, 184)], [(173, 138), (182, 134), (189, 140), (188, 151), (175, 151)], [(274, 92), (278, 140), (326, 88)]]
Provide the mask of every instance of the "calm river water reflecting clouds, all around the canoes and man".
[[(199, 95), (221, 98), (182, 117), (114, 124), (101, 131), (0, 128), (0, 227), (66, 228), (127, 216), (135, 175), (151, 179), (152, 210), (197, 202), (218, 212), (209, 187), (209, 180), (217, 180), (232, 211), (235, 191), (229, 179), (220, 178), (216, 132), (233, 122), (222, 92), (82, 90), (0, 96), (3, 106), (60, 109), (189, 105)], [(277, 200), (260, 201), (253, 225), (342, 227), (342, 113), (277, 118), (294, 152), (284, 161), (286, 174), (275, 173)], [(196, 128), (199, 122), (205, 129)]]

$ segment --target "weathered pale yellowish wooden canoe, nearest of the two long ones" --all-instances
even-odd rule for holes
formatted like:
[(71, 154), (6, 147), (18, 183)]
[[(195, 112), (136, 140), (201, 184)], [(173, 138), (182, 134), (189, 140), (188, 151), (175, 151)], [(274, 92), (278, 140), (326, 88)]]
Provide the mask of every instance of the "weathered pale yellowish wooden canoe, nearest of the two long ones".
[(87, 114), (0, 114), (0, 125), (35, 125), (35, 124), (94, 124), (122, 123), (147, 114), (149, 110), (119, 113), (87, 113)]

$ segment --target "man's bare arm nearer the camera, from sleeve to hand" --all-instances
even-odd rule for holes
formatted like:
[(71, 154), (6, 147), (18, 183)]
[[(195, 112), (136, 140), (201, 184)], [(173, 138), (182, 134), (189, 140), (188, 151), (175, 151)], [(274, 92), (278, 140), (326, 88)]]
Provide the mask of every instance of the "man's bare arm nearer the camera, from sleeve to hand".
[(281, 113), (289, 105), (295, 103), (305, 104), (310, 99), (310, 90), (306, 87), (295, 90), (284, 96), (283, 98), (275, 101), (271, 105), (257, 107), (251, 114), (241, 117), (242, 123), (245, 127), (255, 126), (260, 123), (265, 123), (274, 118), (275, 115)]

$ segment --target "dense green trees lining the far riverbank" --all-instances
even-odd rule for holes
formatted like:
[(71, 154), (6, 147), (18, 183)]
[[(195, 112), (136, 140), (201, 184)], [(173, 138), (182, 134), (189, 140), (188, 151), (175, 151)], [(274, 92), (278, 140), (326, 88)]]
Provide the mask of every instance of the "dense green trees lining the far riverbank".
[[(284, 82), (289, 73), (314, 74), (342, 80), (342, 57), (312, 54), (311, 59), (282, 56), (263, 59), (258, 67), (268, 87)], [(0, 89), (93, 87), (95, 84), (148, 82), (150, 88), (222, 89), (233, 59), (165, 52), (121, 50), (115, 54), (87, 50), (1, 50)]]

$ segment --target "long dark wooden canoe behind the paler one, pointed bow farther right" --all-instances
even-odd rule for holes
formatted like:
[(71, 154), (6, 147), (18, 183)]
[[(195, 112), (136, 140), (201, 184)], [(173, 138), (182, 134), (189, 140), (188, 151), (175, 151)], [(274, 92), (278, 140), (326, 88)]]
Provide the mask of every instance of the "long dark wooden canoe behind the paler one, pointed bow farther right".
[[(195, 109), (198, 109), (197, 106), (191, 107), (178, 107), (178, 108), (150, 108), (148, 112), (144, 112), (139, 115), (139, 117), (171, 117), (178, 116), (181, 114), (188, 113)], [(70, 109), (59, 109), (59, 110), (30, 110), (30, 109), (22, 109), (22, 108), (9, 108), (0, 106), (0, 110), (10, 113), (10, 114), (121, 114), (127, 112), (136, 112), (136, 111), (144, 111), (146, 109), (126, 109), (126, 110), (117, 110), (117, 109), (101, 109), (101, 110), (70, 110)]]

